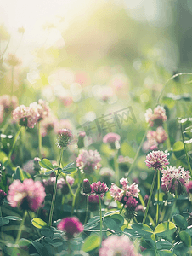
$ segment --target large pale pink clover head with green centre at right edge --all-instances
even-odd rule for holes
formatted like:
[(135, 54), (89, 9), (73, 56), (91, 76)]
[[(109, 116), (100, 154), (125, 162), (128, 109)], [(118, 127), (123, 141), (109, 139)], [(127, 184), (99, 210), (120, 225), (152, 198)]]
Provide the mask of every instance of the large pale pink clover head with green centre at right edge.
[(175, 194), (175, 189), (177, 190), (178, 195), (181, 195), (184, 192), (185, 186), (189, 183), (190, 172), (184, 171), (184, 167), (175, 166), (167, 167), (167, 170), (162, 170), (161, 177), (161, 188), (169, 191), (172, 194)]

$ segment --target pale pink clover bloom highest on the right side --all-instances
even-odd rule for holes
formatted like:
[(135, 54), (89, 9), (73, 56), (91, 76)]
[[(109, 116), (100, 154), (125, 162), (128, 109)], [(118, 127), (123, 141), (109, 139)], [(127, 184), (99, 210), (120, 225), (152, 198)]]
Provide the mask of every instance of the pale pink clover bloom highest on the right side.
[(162, 125), (163, 121), (167, 121), (166, 110), (160, 105), (154, 108), (154, 113), (151, 108), (147, 109), (144, 117), (146, 122), (149, 123), (151, 127), (154, 125), (154, 122), (159, 126)]

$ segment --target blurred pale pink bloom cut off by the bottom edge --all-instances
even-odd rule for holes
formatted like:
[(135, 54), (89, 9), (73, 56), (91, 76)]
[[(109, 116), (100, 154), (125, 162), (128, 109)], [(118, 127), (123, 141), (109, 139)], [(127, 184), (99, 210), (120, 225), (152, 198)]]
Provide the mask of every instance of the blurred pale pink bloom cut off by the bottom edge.
[(102, 248), (99, 249), (99, 256), (139, 256), (134, 250), (133, 242), (128, 236), (109, 236), (102, 241)]

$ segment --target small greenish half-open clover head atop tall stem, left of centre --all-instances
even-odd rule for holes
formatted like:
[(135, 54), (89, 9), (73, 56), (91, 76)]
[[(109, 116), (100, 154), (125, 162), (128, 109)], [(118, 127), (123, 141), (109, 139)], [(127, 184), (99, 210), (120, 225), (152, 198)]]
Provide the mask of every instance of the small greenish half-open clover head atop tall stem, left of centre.
[(67, 148), (72, 138), (72, 132), (69, 129), (60, 129), (57, 137), (58, 148)]

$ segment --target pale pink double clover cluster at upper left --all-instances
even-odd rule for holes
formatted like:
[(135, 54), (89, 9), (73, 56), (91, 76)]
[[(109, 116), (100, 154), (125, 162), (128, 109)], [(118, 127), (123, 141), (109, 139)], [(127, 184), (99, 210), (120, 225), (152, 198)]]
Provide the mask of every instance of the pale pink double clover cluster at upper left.
[(50, 109), (48, 103), (41, 99), (37, 102), (32, 102), (29, 107), (20, 105), (14, 109), (13, 119), (19, 121), (21, 126), (33, 128), (37, 122), (45, 117), (48, 117)]

